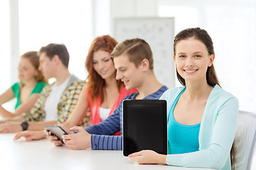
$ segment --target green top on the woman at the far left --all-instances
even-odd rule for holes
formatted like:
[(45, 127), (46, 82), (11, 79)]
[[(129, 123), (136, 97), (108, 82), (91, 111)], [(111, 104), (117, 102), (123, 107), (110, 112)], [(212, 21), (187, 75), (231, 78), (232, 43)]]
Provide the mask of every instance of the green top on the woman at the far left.
[[(32, 94), (39, 94), (42, 91), (44, 86), (46, 86), (45, 82), (37, 82), (36, 86), (34, 87), (33, 91), (31, 92), (31, 94), (28, 97), (30, 97)], [(17, 98), (17, 103), (15, 106), (15, 109), (16, 109), (16, 108), (18, 108), (18, 106), (21, 105), (21, 101), (20, 101), (21, 90), (20, 90), (19, 83), (12, 85), (11, 89), (14, 91), (14, 94)]]

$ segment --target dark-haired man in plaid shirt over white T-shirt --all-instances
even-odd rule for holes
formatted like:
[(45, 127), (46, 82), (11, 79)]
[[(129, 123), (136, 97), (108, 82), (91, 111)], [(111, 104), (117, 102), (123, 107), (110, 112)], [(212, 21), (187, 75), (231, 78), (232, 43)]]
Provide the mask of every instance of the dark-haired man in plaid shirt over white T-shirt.
[[(84, 86), (83, 81), (70, 74), (68, 62), (69, 53), (65, 45), (51, 43), (41, 47), (39, 69), (47, 79), (54, 77), (56, 81), (43, 88), (28, 113), (1, 123), (0, 132), (43, 130), (45, 125), (64, 123), (68, 119)], [(80, 125), (90, 125), (89, 113), (80, 121)]]

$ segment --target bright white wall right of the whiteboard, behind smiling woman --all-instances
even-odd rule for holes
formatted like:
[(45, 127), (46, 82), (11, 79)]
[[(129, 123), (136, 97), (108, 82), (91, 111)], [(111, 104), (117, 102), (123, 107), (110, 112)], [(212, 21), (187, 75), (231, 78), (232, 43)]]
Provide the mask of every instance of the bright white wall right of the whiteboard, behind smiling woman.
[(159, 0), (159, 16), (174, 16), (176, 33), (206, 29), (213, 39), (220, 85), (238, 98), (240, 110), (256, 113), (256, 1)]

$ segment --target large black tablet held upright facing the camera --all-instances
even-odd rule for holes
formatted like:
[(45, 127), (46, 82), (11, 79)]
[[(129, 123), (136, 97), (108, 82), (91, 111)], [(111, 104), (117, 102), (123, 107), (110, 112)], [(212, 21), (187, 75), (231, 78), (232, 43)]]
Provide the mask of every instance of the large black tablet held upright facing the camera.
[(144, 149), (167, 154), (165, 100), (123, 101), (123, 154)]

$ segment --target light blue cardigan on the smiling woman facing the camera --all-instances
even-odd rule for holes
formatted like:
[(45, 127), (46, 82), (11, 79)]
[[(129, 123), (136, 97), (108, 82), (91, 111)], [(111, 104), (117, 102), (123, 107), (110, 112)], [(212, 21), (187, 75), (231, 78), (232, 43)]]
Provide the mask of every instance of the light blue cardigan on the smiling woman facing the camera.
[[(167, 114), (184, 88), (185, 86), (169, 89), (161, 96), (160, 99), (167, 101)], [(235, 96), (215, 85), (208, 97), (201, 121), (199, 151), (168, 154), (166, 163), (173, 166), (230, 170), (230, 149), (235, 137), (238, 107)]]

